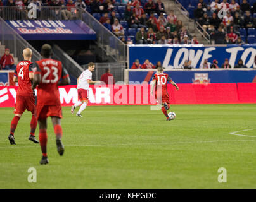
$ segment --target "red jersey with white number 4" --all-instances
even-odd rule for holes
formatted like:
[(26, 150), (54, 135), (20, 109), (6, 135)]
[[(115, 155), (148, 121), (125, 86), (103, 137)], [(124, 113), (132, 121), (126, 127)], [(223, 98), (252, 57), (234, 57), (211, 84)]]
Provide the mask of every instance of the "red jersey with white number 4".
[(18, 62), (14, 76), (18, 76), (18, 90), (17, 95), (29, 96), (34, 92), (31, 89), (32, 81), (29, 78), (29, 73), (33, 72), (33, 63), (30, 61)]

